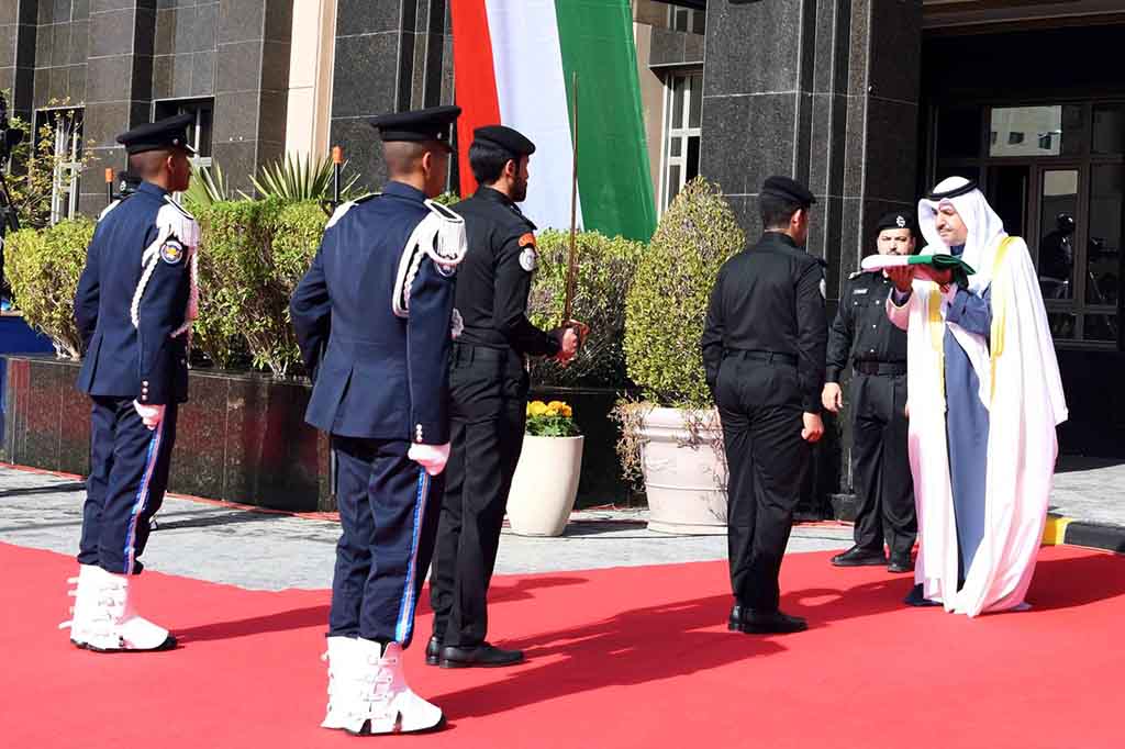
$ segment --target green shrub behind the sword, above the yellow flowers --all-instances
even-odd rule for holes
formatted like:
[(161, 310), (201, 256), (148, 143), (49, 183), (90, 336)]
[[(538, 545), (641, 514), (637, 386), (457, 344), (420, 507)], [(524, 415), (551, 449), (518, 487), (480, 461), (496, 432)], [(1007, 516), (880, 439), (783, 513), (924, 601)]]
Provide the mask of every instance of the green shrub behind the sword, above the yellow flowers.
[[(543, 232), (538, 245), (539, 269), (532, 281), (528, 312), (531, 322), (550, 330), (562, 321), (570, 235)], [(567, 367), (552, 359), (532, 359), (532, 381), (555, 387), (627, 387), (622, 349), (624, 299), (645, 245), (620, 236), (580, 232), (576, 247), (578, 271), (572, 314), (590, 326), (590, 336)]]

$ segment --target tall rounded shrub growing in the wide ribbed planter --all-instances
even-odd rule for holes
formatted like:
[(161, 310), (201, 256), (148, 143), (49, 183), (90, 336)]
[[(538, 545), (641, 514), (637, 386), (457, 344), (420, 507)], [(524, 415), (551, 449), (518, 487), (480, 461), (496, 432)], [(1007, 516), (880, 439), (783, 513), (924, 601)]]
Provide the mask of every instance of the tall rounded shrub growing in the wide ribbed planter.
[(705, 408), (700, 336), (722, 263), (746, 243), (726, 198), (702, 178), (665, 211), (626, 301), (629, 377), (662, 406)]

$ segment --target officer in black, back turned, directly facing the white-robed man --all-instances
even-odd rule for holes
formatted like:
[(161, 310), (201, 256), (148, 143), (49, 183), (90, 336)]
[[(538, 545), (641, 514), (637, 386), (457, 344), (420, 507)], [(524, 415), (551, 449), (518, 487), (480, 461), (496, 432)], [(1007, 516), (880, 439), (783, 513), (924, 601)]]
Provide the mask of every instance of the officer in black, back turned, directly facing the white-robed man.
[(703, 331), (729, 467), (735, 606), (728, 626), (747, 633), (807, 626), (780, 611), (777, 575), (811, 445), (824, 434), (824, 262), (802, 249), (814, 202), (792, 179), (765, 181), (758, 198), (765, 234), (720, 269)]

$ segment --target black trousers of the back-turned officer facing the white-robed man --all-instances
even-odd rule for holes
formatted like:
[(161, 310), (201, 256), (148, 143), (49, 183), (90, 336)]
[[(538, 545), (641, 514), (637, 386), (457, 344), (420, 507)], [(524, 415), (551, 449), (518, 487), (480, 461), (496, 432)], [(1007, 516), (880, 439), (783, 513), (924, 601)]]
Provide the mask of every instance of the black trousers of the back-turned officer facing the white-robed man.
[(794, 359), (735, 353), (716, 382), (727, 448), (730, 585), (740, 605), (760, 613), (777, 611), (777, 575), (811, 459), (801, 437)]

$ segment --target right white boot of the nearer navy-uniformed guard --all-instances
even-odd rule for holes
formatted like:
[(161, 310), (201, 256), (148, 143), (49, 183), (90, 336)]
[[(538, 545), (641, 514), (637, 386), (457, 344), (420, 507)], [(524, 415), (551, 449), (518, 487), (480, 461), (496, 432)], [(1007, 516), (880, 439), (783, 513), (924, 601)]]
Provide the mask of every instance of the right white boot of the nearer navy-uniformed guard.
[(359, 640), (367, 649), (367, 662), (377, 666), (371, 705), (371, 724), (368, 730), (377, 733), (413, 733), (432, 731), (446, 723), (441, 709), (414, 694), (406, 684), (403, 671), (403, 647), (397, 642), (387, 644), (382, 655), (380, 646), (370, 640)]

